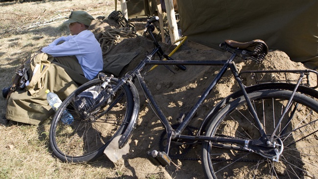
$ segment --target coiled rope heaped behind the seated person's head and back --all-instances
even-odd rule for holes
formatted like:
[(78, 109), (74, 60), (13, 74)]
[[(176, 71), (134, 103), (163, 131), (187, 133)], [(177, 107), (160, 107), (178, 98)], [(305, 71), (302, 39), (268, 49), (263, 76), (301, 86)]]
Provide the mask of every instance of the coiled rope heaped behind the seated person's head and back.
[(101, 44), (103, 56), (106, 55), (111, 50), (114, 44), (116, 44), (117, 41), (120, 40), (120, 38), (122, 37), (136, 38), (137, 37), (136, 31), (135, 31), (135, 25), (132, 23), (129, 23), (128, 20), (126, 20), (126, 18), (123, 17), (120, 11), (112, 12), (108, 18), (116, 20), (121, 26), (121, 28), (120, 29), (110, 28), (102, 32), (102, 37), (98, 40), (98, 42)]

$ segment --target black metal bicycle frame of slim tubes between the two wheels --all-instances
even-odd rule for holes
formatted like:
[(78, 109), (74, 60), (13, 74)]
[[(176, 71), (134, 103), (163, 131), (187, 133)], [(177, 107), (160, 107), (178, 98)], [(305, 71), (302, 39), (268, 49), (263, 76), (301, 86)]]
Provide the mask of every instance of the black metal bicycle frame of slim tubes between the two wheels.
[[(223, 75), (226, 73), (227, 69), (230, 68), (232, 71), (232, 74), (234, 75), (236, 81), (238, 82), (245, 98), (248, 103), (248, 107), (250, 109), (250, 113), (252, 114), (257, 127), (259, 128), (260, 135), (264, 138), (267, 138), (265, 131), (263, 129), (263, 126), (260, 122), (260, 120), (257, 117), (257, 114), (252, 106), (252, 103), (248, 97), (248, 94), (245, 90), (245, 86), (242, 83), (241, 79), (239, 78), (239, 74), (237, 71), (237, 67), (233, 60), (237, 56), (236, 53), (233, 53), (231, 57), (228, 60), (207, 60), (207, 61), (198, 61), (198, 60), (152, 60), (154, 58), (155, 54), (163, 55), (161, 53), (161, 47), (158, 46), (155, 48), (144, 60), (142, 60), (139, 65), (133, 70), (131, 73), (126, 74), (125, 77), (122, 78), (122, 83), (124, 81), (134, 78), (134, 76), (138, 79), (138, 81), (141, 84), (142, 90), (145, 93), (146, 98), (150, 101), (150, 104), (154, 107), (155, 112), (159, 116), (159, 120), (162, 123), (163, 127), (167, 131), (167, 137), (168, 137), (168, 144), (166, 146), (166, 152), (169, 151), (170, 147), (170, 139), (187, 139), (187, 140), (204, 140), (204, 141), (227, 141), (227, 142), (233, 142), (238, 144), (244, 144), (247, 145), (251, 140), (246, 139), (228, 139), (228, 138), (222, 138), (222, 137), (206, 137), (206, 136), (185, 136), (181, 135), (182, 131), (185, 129), (185, 127), (189, 124), (190, 120), (194, 117), (196, 111), (198, 110), (199, 106), (203, 103), (204, 99), (208, 96), (208, 94), (212, 91), (212, 89), (216, 86), (216, 84), (219, 82), (219, 80), (223, 77)], [(210, 65), (210, 66), (223, 66), (220, 70), (220, 72), (217, 74), (216, 77), (211, 81), (211, 83), (207, 86), (204, 93), (201, 95), (200, 99), (196, 102), (196, 104), (192, 107), (192, 109), (189, 111), (189, 113), (186, 115), (186, 117), (183, 119), (180, 126), (174, 130), (169, 121), (164, 116), (162, 110), (160, 109), (159, 105), (157, 104), (156, 100), (151, 94), (151, 91), (149, 90), (149, 87), (147, 86), (145, 80), (143, 79), (140, 71), (144, 68), (145, 65)], [(120, 85), (120, 84), (119, 84)], [(115, 90), (115, 89), (114, 89)], [(247, 148), (240, 148), (241, 150), (249, 150)]]

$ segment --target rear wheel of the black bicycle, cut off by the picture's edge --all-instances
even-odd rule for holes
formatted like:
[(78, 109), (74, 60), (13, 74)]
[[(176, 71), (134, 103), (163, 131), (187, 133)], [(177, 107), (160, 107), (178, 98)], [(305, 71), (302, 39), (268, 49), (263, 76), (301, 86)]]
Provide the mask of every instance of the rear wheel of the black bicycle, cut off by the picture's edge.
[[(249, 94), (268, 139), (291, 95), (292, 92), (284, 90), (265, 90)], [(205, 135), (261, 141), (256, 126), (245, 98), (240, 97), (216, 114)], [(276, 150), (275, 153), (273, 148), (265, 146), (257, 152), (247, 152), (238, 149), (247, 148), (244, 144), (206, 142), (202, 153), (205, 175), (214, 179), (304, 179), (305, 176), (316, 179), (317, 131), (318, 101), (296, 93), (274, 135), (274, 141), (281, 150)], [(221, 144), (226, 144), (230, 149), (224, 149)], [(249, 145), (248, 148), (252, 147)]]

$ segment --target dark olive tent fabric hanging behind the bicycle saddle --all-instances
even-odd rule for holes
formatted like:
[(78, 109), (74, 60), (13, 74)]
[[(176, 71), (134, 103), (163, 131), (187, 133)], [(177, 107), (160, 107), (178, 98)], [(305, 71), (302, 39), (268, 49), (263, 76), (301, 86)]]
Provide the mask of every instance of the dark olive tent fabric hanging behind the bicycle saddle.
[(182, 35), (219, 49), (224, 40), (264, 40), (318, 67), (318, 0), (177, 0)]

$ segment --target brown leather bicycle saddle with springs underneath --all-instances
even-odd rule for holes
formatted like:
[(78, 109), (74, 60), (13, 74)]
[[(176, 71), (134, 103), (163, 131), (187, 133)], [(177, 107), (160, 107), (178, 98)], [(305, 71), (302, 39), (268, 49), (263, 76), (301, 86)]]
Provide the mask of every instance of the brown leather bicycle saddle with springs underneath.
[(268, 46), (263, 40), (251, 40), (248, 42), (238, 42), (234, 40), (224, 40), (220, 48), (230, 53), (241, 55), (243, 59), (251, 59), (260, 63), (268, 53)]

